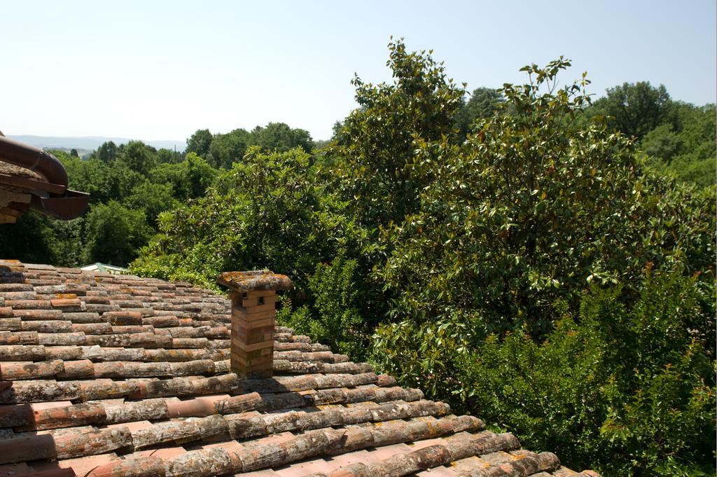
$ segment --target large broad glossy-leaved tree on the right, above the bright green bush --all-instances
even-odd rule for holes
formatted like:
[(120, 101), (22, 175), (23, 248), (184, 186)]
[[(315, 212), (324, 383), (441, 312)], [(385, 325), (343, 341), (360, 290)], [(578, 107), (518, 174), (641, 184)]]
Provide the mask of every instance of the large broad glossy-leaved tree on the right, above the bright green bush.
[(420, 211), (384, 231), (377, 275), (396, 298), (377, 359), (441, 399), (465, 385), (456, 354), (523, 326), (541, 339), (554, 304), (575, 311), (591, 283), (635, 293), (645, 268), (714, 279), (713, 192), (643, 174), (630, 140), (575, 121), (587, 80), (554, 90), (567, 66), (526, 67), (531, 82), (503, 88), (511, 114), (462, 145), (423, 144), (417, 166), (435, 180)]

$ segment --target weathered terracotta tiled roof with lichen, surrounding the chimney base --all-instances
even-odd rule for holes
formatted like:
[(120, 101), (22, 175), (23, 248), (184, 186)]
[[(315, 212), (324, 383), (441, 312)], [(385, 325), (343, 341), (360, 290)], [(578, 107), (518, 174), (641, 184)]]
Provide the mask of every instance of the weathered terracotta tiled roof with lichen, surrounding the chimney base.
[(189, 283), (0, 261), (0, 477), (597, 475), (288, 328), (238, 379), (229, 328)]

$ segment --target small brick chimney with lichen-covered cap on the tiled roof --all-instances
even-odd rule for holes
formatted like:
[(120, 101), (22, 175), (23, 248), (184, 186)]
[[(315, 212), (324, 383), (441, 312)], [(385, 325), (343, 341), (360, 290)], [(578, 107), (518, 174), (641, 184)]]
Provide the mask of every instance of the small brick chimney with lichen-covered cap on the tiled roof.
[(217, 283), (232, 301), (232, 372), (240, 378), (272, 377), (276, 292), (292, 288), (286, 275), (269, 270), (224, 272)]

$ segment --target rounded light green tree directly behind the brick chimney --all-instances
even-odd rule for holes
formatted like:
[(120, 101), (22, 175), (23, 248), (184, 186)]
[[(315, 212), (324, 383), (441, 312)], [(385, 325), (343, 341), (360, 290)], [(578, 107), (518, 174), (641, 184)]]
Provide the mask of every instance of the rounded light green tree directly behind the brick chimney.
[(214, 286), (226, 270), (271, 268), (288, 273), (303, 292), (316, 264), (355, 240), (338, 207), (308, 154), (250, 148), (204, 197), (161, 214), (160, 234), (133, 269)]

